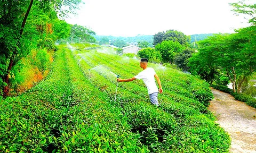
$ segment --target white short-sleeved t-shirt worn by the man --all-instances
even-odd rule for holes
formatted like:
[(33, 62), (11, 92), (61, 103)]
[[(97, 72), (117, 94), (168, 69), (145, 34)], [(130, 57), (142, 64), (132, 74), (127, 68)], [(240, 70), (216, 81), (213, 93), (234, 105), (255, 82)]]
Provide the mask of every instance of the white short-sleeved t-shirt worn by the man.
[(146, 87), (148, 88), (148, 94), (153, 94), (154, 92), (158, 92), (158, 88), (156, 86), (155, 81), (155, 70), (151, 67), (147, 67), (147, 69), (141, 71), (138, 75), (136, 75), (134, 78), (136, 79), (142, 79), (145, 83)]

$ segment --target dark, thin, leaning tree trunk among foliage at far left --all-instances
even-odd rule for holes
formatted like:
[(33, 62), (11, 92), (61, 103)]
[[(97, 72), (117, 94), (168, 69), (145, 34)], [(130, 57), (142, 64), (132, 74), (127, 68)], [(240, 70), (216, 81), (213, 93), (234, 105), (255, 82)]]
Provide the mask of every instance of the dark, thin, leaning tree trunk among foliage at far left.
[[(25, 27), (25, 23), (27, 21), (27, 18), (28, 18), (28, 14), (30, 12), (30, 9), (31, 9), (31, 6), (33, 5), (33, 1), (34, 0), (31, 0), (30, 3), (29, 3), (29, 6), (28, 6), (28, 10), (24, 16), (24, 19), (23, 19), (23, 22), (21, 24), (21, 29), (20, 29), (20, 37), (18, 38), (18, 44), (20, 44), (20, 38), (21, 38), (21, 35), (23, 33), (23, 30), (24, 30), (24, 27)], [(6, 97), (9, 95), (9, 75), (10, 75), (10, 72), (12, 70), (12, 67), (15, 65), (13, 63), (13, 59), (14, 59), (14, 56), (17, 55), (17, 50), (14, 49), (13, 50), (13, 56), (10, 58), (10, 63), (9, 63), (9, 66), (8, 66), (8, 69), (7, 69), (7, 74), (4, 76), (4, 82), (7, 84), (7, 86), (4, 87), (3, 89), (3, 96)]]

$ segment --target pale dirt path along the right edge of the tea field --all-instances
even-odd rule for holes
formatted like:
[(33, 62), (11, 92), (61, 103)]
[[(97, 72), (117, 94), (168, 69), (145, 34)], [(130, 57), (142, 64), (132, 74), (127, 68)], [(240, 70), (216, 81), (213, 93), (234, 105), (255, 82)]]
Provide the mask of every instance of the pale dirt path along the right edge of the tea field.
[(209, 109), (217, 123), (230, 134), (230, 152), (256, 152), (256, 109), (225, 92), (211, 88), (214, 99)]

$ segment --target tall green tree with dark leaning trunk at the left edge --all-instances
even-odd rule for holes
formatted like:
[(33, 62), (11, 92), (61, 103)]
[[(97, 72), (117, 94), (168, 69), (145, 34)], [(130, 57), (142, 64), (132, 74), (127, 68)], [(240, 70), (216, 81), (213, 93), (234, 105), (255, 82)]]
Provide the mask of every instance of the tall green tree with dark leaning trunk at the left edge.
[(0, 2), (0, 86), (4, 96), (9, 92), (9, 78), (13, 76), (12, 67), (29, 53), (29, 42), (33, 36), (30, 31), (26, 31), (25, 25), (32, 6), (35, 5), (42, 12), (49, 12), (49, 15), (57, 16), (58, 13), (63, 16), (77, 8), (79, 3), (81, 0)]

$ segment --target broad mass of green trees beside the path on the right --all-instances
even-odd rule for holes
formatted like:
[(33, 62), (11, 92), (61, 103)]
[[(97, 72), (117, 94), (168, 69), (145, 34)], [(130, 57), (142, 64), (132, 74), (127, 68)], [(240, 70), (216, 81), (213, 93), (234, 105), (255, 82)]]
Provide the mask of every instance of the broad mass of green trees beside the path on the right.
[(237, 84), (234, 92), (240, 92), (243, 82), (255, 71), (255, 36), (255, 26), (252, 26), (231, 35), (214, 35), (199, 41), (199, 53), (189, 59), (191, 73), (209, 83), (214, 80), (221, 83), (221, 77), (228, 77)]

